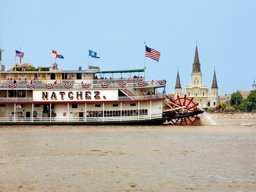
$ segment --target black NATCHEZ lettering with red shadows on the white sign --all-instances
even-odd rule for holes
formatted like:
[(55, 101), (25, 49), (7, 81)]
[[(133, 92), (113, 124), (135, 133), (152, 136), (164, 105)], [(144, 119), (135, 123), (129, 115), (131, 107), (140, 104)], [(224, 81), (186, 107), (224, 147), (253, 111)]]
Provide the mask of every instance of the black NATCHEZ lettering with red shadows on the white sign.
[[(60, 95), (60, 96), (59, 96)], [(66, 95), (66, 92), (59, 92), (59, 95), (56, 94), (55, 92), (52, 92), (50, 98), (49, 98), (49, 92), (42, 92), (42, 100), (58, 100), (58, 98), (60, 98), (61, 100), (64, 100), (64, 96)], [(74, 99), (74, 93), (72, 91), (68, 92), (68, 98), (70, 100), (73, 100)], [(85, 91), (85, 92), (82, 92), (82, 91), (77, 91), (75, 92), (75, 95), (76, 95), (76, 99), (77, 100), (91, 100), (92, 97), (92, 92), (90, 91)], [(97, 99), (99, 100), (100, 99), (100, 92), (99, 91), (95, 91), (94, 92), (94, 99)], [(103, 99), (107, 99), (105, 96), (103, 96)]]

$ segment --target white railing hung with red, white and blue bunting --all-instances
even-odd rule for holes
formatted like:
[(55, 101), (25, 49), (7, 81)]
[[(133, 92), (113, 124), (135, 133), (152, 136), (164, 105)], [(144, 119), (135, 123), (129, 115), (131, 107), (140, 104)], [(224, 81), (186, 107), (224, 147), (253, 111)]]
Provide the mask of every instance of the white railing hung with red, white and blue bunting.
[[(54, 84), (54, 82), (51, 82), (50, 84)], [(130, 82), (130, 83), (127, 83), (127, 85), (124, 88), (159, 87), (159, 86), (164, 86), (164, 85), (160, 84), (158, 81), (147, 81), (143, 86), (139, 86), (137, 82)], [(123, 87), (121, 87), (118, 83), (110, 83), (107, 88), (103, 88), (100, 84), (91, 84), (91, 86), (88, 89), (109, 89), (109, 88), (120, 89)], [(8, 84), (0, 84), (0, 89), (30, 89), (30, 88), (28, 88), (26, 84), (18, 83), (14, 88), (10, 88)], [(46, 86), (45, 84), (36, 84), (33, 89), (46, 89)], [(52, 89), (66, 89), (66, 87), (63, 84), (54, 84)], [(84, 89), (84, 87), (82, 84), (72, 84), (72, 87), (70, 87), (70, 89)]]

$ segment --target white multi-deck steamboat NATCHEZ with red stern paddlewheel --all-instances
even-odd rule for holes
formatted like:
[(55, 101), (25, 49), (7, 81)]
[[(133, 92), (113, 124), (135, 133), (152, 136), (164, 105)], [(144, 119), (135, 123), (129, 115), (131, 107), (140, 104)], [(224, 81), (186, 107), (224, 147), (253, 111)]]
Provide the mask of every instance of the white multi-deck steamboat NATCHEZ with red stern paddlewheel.
[(0, 124), (188, 125), (203, 113), (193, 98), (168, 98), (166, 80), (146, 81), (145, 69), (63, 70), (55, 62), (5, 71), (0, 64)]

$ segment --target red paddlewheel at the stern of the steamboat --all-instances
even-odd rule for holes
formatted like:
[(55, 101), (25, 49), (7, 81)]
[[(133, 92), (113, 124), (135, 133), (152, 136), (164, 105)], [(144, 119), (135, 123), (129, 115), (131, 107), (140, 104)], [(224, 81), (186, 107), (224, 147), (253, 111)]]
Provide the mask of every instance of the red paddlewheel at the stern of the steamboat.
[[(201, 113), (201, 110), (197, 108), (199, 105), (195, 103), (192, 98), (177, 96), (176, 100), (170, 100), (167, 105), (168, 112), (175, 112), (175, 116), (169, 119), (168, 122), (174, 125), (193, 125), (197, 124), (200, 117), (197, 115)], [(200, 111), (200, 113), (198, 113)], [(166, 112), (166, 113), (168, 113)]]

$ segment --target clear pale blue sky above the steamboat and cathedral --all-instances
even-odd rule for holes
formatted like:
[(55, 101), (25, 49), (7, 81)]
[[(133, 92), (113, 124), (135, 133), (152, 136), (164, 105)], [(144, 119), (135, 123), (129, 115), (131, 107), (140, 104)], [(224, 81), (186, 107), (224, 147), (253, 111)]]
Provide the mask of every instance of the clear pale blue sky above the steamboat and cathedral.
[[(174, 92), (179, 66), (182, 88), (198, 41), (203, 84), (219, 93), (250, 90), (255, 75), (256, 1), (6, 1), (0, 0), (2, 62), (8, 69), (15, 49), (23, 62), (50, 66), (51, 50), (64, 56), (60, 68), (88, 67), (88, 49), (101, 70), (144, 67), (144, 41), (161, 52), (146, 58), (146, 80), (166, 79)], [(18, 58), (17, 58), (18, 59)]]

